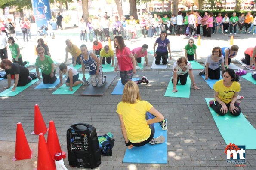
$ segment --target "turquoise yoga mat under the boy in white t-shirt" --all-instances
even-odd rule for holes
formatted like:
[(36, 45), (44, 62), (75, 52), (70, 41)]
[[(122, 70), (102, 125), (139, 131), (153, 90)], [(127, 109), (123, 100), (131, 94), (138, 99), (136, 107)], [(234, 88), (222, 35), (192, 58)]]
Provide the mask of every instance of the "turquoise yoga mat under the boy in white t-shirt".
[[(90, 78), (90, 75), (85, 74), (85, 78), (88, 81), (88, 79)], [(83, 79), (83, 74), (79, 74), (79, 79), (80, 80)], [(62, 81), (62, 82), (64, 82), (64, 84), (62, 84), (62, 86), (56, 89), (52, 94), (62, 94), (62, 95), (74, 94), (80, 88), (80, 86), (82, 86), (82, 84), (78, 84), (77, 86), (72, 87), (73, 91), (70, 91), (69, 87), (66, 86), (65, 81)]]

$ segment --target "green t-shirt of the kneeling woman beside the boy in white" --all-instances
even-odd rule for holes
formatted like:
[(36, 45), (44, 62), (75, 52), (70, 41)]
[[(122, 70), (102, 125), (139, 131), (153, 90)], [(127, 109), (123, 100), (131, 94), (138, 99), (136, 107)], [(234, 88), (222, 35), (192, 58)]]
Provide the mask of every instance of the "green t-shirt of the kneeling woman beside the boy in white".
[(44, 57), (45, 57), (45, 59), (43, 61), (41, 61), (40, 58), (37, 57), (35, 66), (40, 67), (43, 74), (49, 75), (52, 72), (53, 60), (51, 59), (50, 56), (44, 55)]

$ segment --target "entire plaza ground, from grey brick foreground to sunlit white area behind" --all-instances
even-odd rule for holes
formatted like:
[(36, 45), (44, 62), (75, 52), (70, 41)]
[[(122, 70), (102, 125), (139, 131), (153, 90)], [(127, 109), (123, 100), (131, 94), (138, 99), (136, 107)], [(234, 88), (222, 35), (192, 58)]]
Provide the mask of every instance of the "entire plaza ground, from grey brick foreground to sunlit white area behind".
[[(59, 74), (59, 64), (65, 61), (65, 39), (71, 39), (72, 43), (78, 47), (82, 44), (79, 36), (71, 36), (70, 33), (79, 33), (77, 28), (60, 30), (56, 34), (56, 39), (45, 38), (49, 46), (52, 58), (56, 64), (56, 73)], [(197, 60), (204, 64), (206, 57), (211, 54), (213, 47), (229, 47), (231, 35), (213, 34), (212, 38), (201, 39), (201, 45), (197, 46)], [(120, 122), (116, 113), (117, 104), (121, 101), (121, 95), (111, 95), (120, 74), (111, 83), (103, 96), (80, 96), (87, 86), (81, 86), (73, 95), (54, 95), (55, 89), (34, 89), (40, 81), (25, 89), (14, 97), (0, 97), (0, 148), (6, 144), (14, 143), (16, 136), (16, 124), (22, 122), (26, 137), (30, 146), (34, 146), (37, 153), (38, 136), (31, 135), (34, 130), (34, 105), (38, 104), (46, 126), (49, 120), (54, 120), (62, 144), (62, 150), (67, 152), (66, 132), (70, 125), (78, 122), (92, 124), (98, 135), (111, 132), (114, 135), (115, 144), (113, 156), (102, 156), (102, 163), (97, 170), (256, 170), (256, 150), (246, 150), (246, 167), (235, 167), (228, 163), (227, 155), (224, 153), (226, 143), (223, 140), (218, 128), (213, 120), (213, 116), (207, 107), (205, 98), (213, 98), (214, 91), (198, 73), (199, 69), (193, 69), (195, 83), (200, 90), (194, 90), (191, 85), (190, 98), (165, 97), (167, 86), (171, 78), (171, 68), (179, 57), (185, 57), (184, 47), (188, 43), (185, 36), (167, 36), (170, 40), (170, 47), (173, 59), (169, 62), (167, 69), (151, 69), (154, 59), (153, 54), (148, 54), (148, 63), (144, 65), (144, 70), (138, 70), (133, 77), (141, 78), (147, 76), (150, 84), (139, 84), (140, 94), (143, 100), (149, 101), (167, 119), (167, 164), (130, 164), (123, 163), (126, 146), (120, 129)], [(22, 36), (18, 36), (22, 42)], [(136, 42), (125, 41), (127, 47), (133, 48), (148, 44), (148, 50), (153, 50), (155, 39), (143, 38)], [(255, 46), (256, 36), (249, 34), (234, 35), (234, 44), (239, 46), (236, 58), (244, 57), (244, 51), (248, 47)], [(84, 42), (89, 49), (92, 42)], [(102, 42), (103, 46), (108, 42)], [(113, 46), (113, 41), (111, 42)], [(195, 40), (197, 44), (197, 40)], [(21, 50), (23, 60), (35, 61), (34, 46), (37, 45), (35, 35), (32, 40), (22, 43), (25, 47)], [(10, 56), (10, 54), (9, 54)], [(10, 57), (9, 57), (10, 59)], [(71, 63), (71, 56), (68, 57)], [(235, 65), (245, 69), (240, 63), (232, 59)], [(30, 70), (34, 66), (28, 67)], [(248, 74), (250, 70), (245, 69)], [(80, 73), (81, 69), (78, 70)], [(108, 80), (108, 79), (107, 79)], [(12, 81), (13, 82), (13, 81)], [(246, 115), (247, 120), (256, 128), (256, 91), (255, 85), (240, 78), (241, 92), (244, 96), (241, 101), (241, 110)], [(0, 81), (0, 92), (2, 87), (7, 86), (7, 80)], [(230, 127), (232, 128), (232, 127)], [(239, 136), (239, 134), (237, 134)], [(47, 134), (45, 135), (47, 137)], [(25, 170), (26, 166), (36, 167), (37, 155), (33, 155), (32, 160), (11, 161), (15, 151), (10, 147), (8, 155), (10, 159), (4, 165), (0, 165), (1, 170)], [(3, 153), (3, 152), (2, 152)], [(2, 155), (0, 160), (7, 155)], [(6, 159), (5, 159), (6, 160)], [(29, 166), (29, 164), (31, 166)], [(68, 167), (68, 159), (65, 159), (65, 166)], [(10, 168), (12, 167), (12, 168)], [(76, 168), (68, 167), (68, 170)], [(82, 169), (82, 168), (80, 168)]]

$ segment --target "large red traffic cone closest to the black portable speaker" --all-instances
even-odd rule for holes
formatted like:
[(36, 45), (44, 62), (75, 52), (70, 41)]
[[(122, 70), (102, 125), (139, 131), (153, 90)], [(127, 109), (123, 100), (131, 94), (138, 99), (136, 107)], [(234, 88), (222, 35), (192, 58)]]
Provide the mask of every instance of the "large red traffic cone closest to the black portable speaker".
[(54, 155), (57, 153), (62, 153), (62, 158), (66, 158), (66, 152), (62, 151), (60, 145), (59, 145), (59, 139), (56, 132), (55, 124), (53, 120), (50, 120), (49, 123), (49, 131), (48, 131), (48, 137), (47, 137), (47, 146), (49, 149), (49, 152), (52, 156), (52, 160), (54, 160)]

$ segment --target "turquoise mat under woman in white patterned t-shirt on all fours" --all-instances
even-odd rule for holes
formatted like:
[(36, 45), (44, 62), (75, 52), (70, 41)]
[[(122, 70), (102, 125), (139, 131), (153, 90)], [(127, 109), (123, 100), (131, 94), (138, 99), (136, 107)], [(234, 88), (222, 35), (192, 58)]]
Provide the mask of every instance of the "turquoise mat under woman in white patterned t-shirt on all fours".
[(180, 82), (179, 82), (176, 86), (176, 89), (178, 90), (178, 92), (173, 92), (173, 83), (172, 83), (172, 78), (171, 78), (170, 83), (167, 86), (167, 89), (166, 89), (166, 92), (165, 92), (164, 96), (189, 98), (189, 96), (190, 96), (190, 84), (191, 84), (191, 80), (188, 76), (187, 83), (185, 85), (181, 85)]

